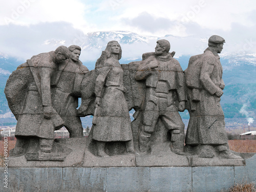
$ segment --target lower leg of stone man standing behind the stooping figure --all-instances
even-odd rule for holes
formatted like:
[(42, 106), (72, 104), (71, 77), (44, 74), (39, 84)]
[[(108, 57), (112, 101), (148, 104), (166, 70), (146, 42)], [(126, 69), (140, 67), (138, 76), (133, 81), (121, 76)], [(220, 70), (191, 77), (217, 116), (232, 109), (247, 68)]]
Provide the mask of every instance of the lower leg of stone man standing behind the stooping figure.
[(63, 116), (62, 119), (65, 121), (65, 127), (69, 131), (70, 138), (81, 138), (83, 137), (83, 128), (80, 117), (77, 116)]

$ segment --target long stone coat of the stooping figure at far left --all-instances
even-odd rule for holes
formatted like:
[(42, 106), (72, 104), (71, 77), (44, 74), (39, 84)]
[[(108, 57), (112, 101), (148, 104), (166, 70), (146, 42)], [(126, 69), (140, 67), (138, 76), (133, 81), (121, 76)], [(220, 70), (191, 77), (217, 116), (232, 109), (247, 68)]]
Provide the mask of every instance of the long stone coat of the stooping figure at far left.
[(29, 75), (33, 78), (27, 82), (25, 101), (18, 114), (15, 136), (37, 136), (53, 139), (54, 130), (63, 125), (58, 113), (52, 108), (50, 119), (44, 118), (43, 107), (50, 106), (51, 90), (50, 81), (56, 64), (53, 61), (54, 52), (42, 53), (33, 56), (26, 63), (18, 66), (17, 72), (29, 68)]

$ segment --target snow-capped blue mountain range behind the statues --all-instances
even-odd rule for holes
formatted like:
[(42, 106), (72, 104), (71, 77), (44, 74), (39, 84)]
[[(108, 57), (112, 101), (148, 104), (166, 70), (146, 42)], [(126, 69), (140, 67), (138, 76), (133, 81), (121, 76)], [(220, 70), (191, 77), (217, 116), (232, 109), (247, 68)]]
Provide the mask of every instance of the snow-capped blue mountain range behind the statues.
[[(181, 64), (182, 69), (186, 69), (190, 56), (203, 53), (207, 47), (207, 37), (176, 37), (166, 35), (164, 39), (172, 42), (172, 47), (175, 47), (176, 55), (174, 56)], [(141, 60), (142, 53), (154, 52), (156, 40), (160, 37), (143, 36), (127, 31), (110, 31), (110, 32), (92, 32), (86, 35), (79, 35), (73, 41), (81, 46), (82, 53), (96, 53), (97, 56), (87, 60), (86, 57), (80, 57), (81, 61), (89, 68), (93, 69), (95, 61), (100, 56), (102, 50), (110, 40), (117, 40), (123, 51), (123, 57), (120, 63), (126, 64), (131, 61)], [(186, 42), (192, 42), (197, 46), (191, 48), (191, 45), (184, 48)], [(67, 45), (65, 40), (47, 40), (45, 44)], [(129, 49), (128, 49), (129, 48)], [(139, 51), (136, 51), (139, 50)], [(194, 50), (189, 51), (189, 50)], [(197, 52), (195, 52), (195, 50)], [(181, 54), (182, 53), (182, 54)], [(184, 53), (184, 54), (183, 54)], [(31, 55), (32, 56), (32, 55)], [(82, 56), (82, 55), (81, 55)], [(89, 57), (89, 56), (88, 56)], [(226, 118), (255, 118), (256, 114), (256, 54), (236, 54), (226, 53), (220, 54), (221, 63), (223, 66), (223, 79), (226, 84), (224, 94), (221, 97), (221, 105), (223, 107)], [(29, 58), (28, 58), (29, 59)], [(14, 125), (15, 118), (8, 108), (8, 104), (4, 94), (4, 88), (9, 75), (13, 70), (24, 61), (17, 61), (17, 58), (8, 57), (1, 54), (0, 50), (0, 125)], [(187, 112), (181, 113), (183, 118), (189, 118)], [(88, 119), (88, 124), (91, 124), (91, 117)], [(87, 121), (87, 120), (86, 120)]]

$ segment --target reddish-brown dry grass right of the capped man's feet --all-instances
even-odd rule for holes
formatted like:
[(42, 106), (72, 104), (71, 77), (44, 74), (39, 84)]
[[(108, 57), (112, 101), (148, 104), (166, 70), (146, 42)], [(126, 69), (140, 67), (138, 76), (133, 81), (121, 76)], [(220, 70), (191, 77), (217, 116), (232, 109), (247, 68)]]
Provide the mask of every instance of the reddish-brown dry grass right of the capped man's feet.
[(256, 153), (256, 140), (228, 140), (230, 150), (240, 153)]

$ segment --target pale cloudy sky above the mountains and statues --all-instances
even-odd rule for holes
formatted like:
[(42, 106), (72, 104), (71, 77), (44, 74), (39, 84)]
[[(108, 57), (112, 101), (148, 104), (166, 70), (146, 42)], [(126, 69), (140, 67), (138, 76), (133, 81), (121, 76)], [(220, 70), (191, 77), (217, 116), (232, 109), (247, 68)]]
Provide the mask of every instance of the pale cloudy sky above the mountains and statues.
[[(130, 31), (159, 38), (172, 35), (172, 47), (190, 55), (200, 54), (197, 43), (207, 47), (208, 37), (216, 34), (226, 40), (224, 53), (256, 53), (253, 0), (0, 1), (0, 54), (20, 61), (59, 45), (70, 46), (77, 37), (98, 31)], [(190, 38), (195, 36), (206, 41)], [(154, 51), (155, 45), (151, 46)], [(131, 44), (125, 49), (137, 57), (149, 48)], [(81, 60), (96, 60), (101, 51), (81, 53)]]

